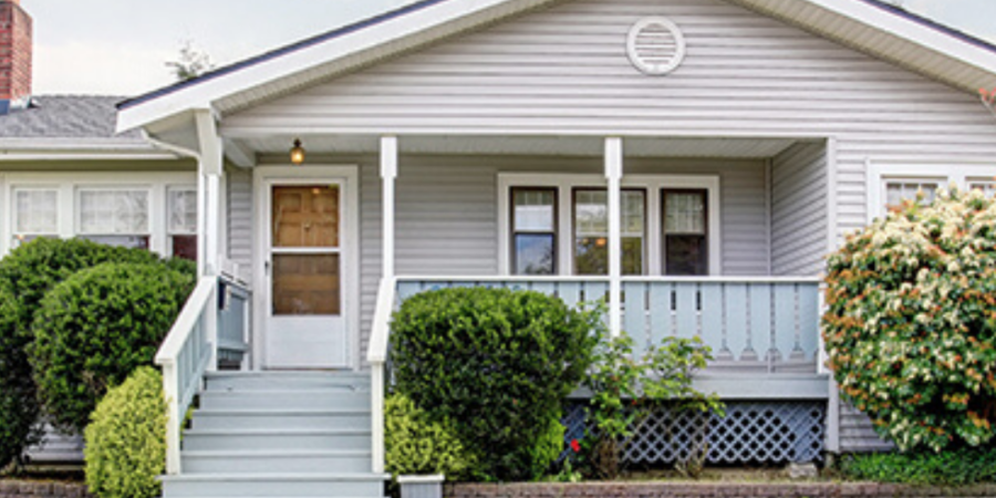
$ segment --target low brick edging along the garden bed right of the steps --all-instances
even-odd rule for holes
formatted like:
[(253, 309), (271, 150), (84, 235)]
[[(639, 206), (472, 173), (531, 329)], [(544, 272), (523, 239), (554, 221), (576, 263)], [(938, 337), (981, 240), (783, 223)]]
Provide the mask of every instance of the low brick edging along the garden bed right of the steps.
[(996, 485), (962, 488), (880, 484), (584, 483), (447, 484), (445, 498), (989, 498)]

